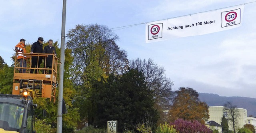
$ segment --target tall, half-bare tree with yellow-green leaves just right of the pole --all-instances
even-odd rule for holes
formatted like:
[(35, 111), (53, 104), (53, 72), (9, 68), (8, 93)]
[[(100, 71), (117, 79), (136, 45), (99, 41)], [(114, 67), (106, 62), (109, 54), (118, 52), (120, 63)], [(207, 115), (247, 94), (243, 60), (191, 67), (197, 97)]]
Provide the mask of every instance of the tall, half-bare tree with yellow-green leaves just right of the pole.
[[(94, 115), (93, 97), (96, 81), (104, 81), (110, 73), (122, 74), (128, 68), (127, 53), (116, 44), (119, 37), (108, 27), (91, 24), (77, 25), (68, 31), (67, 48), (74, 57), (70, 66), (70, 79), (77, 91), (74, 105), (82, 118), (91, 123)], [(103, 79), (101, 79), (103, 77)]]

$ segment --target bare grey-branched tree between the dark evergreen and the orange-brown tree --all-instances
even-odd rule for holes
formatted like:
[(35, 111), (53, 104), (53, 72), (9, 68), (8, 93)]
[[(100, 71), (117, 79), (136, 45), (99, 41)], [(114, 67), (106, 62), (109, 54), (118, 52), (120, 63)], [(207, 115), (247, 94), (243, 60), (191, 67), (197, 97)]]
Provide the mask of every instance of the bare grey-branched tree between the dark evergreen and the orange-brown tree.
[(165, 110), (170, 109), (174, 92), (172, 91), (173, 81), (165, 76), (164, 67), (158, 66), (152, 59), (141, 60), (139, 58), (130, 60), (129, 67), (142, 71), (145, 76), (146, 86), (153, 91), (156, 101), (155, 108), (160, 113), (159, 123), (166, 122)]

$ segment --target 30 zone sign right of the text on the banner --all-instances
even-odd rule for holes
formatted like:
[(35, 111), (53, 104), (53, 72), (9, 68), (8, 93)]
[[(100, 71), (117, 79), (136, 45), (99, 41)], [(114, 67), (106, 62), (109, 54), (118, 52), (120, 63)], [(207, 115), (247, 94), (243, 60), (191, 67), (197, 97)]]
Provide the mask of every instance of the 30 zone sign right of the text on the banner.
[(241, 22), (241, 9), (222, 12), (222, 25), (221, 27), (233, 26)]

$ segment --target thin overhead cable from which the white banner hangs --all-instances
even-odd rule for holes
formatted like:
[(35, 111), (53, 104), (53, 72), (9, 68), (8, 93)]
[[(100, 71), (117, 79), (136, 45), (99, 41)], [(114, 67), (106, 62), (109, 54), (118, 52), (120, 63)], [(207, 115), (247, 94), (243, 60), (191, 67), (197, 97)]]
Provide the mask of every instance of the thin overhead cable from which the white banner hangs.
[[(250, 3), (254, 3), (254, 2), (256, 2), (256, 1), (248, 2), (248, 3), (244, 3), (244, 4), (239, 4), (239, 5), (235, 5), (235, 6), (250, 4)], [(230, 7), (234, 7), (234, 6), (228, 6), (228, 7), (224, 7), (224, 8), (230, 8)], [(214, 9), (214, 10), (220, 10), (220, 9), (224, 9), (224, 8), (218, 8), (218, 9)], [(208, 11), (204, 11), (204, 12), (210, 12), (210, 11), (214, 11), (214, 10), (208, 10)], [(203, 13), (203, 12), (198, 12), (198, 13), (194, 13), (194, 14), (200, 14), (200, 13)], [(191, 16), (193, 14), (188, 14), (188, 15)], [(183, 16), (188, 16), (188, 15), (183, 15)], [(183, 17), (183, 16), (177, 16), (177, 17), (172, 17), (172, 18), (178, 18), (178, 17)], [(166, 19), (162, 19), (162, 20), (168, 20), (168, 19), (172, 19), (172, 18), (166, 18)], [(156, 21), (161, 21), (161, 20), (156, 20)], [(155, 22), (155, 21), (150, 21), (150, 22)], [(111, 28), (111, 30), (113, 30), (113, 29), (122, 30), (122, 29), (125, 29), (125, 28), (130, 28), (130, 27), (134, 27), (134, 26), (138, 26), (138, 25), (146, 24), (146, 23), (150, 23), (150, 22), (144, 22), (144, 23), (140, 23), (140, 24), (132, 24), (132, 25), (128, 25), (128, 26), (121, 26), (121, 27)], [(116, 31), (116, 30), (113, 30), (113, 31)]]

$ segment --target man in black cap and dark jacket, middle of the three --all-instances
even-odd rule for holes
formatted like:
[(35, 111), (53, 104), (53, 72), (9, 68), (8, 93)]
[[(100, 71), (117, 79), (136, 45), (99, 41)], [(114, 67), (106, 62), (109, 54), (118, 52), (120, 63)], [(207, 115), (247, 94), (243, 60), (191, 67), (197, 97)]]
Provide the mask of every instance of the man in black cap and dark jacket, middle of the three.
[[(37, 42), (34, 42), (34, 44), (32, 44), (30, 54), (33, 54), (33, 53), (42, 54), (43, 53), (43, 41), (44, 41), (44, 39), (42, 37), (39, 37)], [(38, 58), (37, 56), (32, 56), (31, 68), (40, 67), (42, 60), (43, 60), (42, 57)], [(30, 69), (30, 73), (34, 73), (34, 69)], [(35, 73), (38, 73), (38, 69), (35, 70)]]

